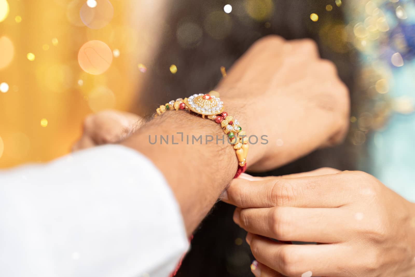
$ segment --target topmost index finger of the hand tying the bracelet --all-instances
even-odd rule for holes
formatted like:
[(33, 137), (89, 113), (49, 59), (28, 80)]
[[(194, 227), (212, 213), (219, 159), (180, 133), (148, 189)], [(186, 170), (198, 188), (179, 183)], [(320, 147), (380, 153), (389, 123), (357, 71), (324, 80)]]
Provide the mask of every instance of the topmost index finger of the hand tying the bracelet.
[(348, 181), (348, 174), (343, 173), (259, 181), (237, 178), (222, 201), (240, 208), (334, 208), (351, 200)]

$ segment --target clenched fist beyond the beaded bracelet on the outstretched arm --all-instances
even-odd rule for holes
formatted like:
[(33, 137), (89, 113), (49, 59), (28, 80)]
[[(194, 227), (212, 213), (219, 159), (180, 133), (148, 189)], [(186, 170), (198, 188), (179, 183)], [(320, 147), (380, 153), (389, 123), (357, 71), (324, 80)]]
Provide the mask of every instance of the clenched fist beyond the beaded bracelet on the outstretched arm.
[[(248, 136), (259, 138), (249, 149), (250, 170), (281, 166), (341, 142), (347, 132), (348, 90), (310, 39), (259, 39), (216, 90), (229, 115), (236, 115)], [(262, 135), (267, 145), (261, 145)]]

